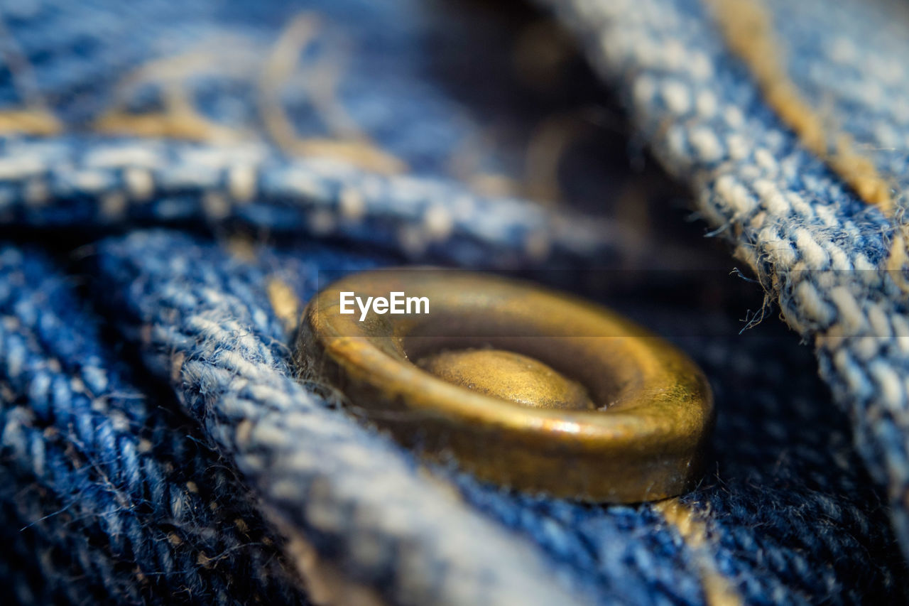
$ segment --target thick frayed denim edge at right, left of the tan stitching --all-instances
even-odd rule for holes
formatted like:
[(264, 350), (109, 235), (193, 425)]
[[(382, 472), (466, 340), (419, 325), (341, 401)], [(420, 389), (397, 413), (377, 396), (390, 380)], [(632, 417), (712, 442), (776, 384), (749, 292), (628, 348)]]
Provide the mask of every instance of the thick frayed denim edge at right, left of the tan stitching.
[[(704, 219), (735, 245), (814, 342), (822, 376), (855, 419), (854, 440), (893, 505), (909, 554), (909, 319), (886, 263), (898, 229), (805, 149), (693, 0), (551, 5)], [(672, 43), (674, 56), (657, 49)], [(710, 103), (695, 103), (699, 95)]]

